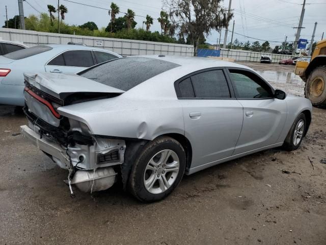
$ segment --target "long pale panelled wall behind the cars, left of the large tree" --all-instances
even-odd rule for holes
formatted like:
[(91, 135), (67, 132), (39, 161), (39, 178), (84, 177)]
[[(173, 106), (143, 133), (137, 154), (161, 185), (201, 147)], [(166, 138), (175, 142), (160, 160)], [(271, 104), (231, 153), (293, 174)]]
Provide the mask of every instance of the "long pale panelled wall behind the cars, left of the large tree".
[(0, 38), (3, 40), (20, 41), (28, 46), (35, 46), (38, 44), (67, 44), (68, 42), (82, 42), (88, 46), (102, 47), (105, 50), (110, 50), (120, 55), (162, 54), (193, 56), (194, 53), (194, 47), (192, 45), (118, 38), (77, 36), (7, 28), (0, 28)]

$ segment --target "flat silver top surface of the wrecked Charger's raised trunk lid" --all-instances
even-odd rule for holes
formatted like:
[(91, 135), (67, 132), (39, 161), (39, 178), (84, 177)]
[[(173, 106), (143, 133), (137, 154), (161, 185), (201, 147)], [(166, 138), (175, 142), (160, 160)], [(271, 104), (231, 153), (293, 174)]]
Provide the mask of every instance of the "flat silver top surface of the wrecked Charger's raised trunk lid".
[(123, 93), (123, 90), (110, 87), (78, 75), (24, 73), (24, 80), (32, 86), (58, 99), (77, 92)]

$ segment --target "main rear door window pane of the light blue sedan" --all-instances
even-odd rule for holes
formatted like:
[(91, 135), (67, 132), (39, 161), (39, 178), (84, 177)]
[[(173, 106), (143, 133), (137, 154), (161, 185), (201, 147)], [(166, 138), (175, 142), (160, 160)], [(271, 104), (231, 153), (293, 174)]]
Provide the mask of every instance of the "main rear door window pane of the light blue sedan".
[(63, 53), (66, 66), (90, 67), (94, 65), (90, 50), (71, 50)]

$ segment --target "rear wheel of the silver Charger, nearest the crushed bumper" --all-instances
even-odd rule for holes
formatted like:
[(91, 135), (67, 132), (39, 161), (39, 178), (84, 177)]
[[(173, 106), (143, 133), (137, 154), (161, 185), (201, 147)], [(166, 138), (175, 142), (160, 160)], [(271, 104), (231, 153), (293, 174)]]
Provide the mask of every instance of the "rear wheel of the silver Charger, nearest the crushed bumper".
[(142, 202), (164, 199), (180, 183), (185, 170), (185, 152), (171, 137), (148, 142), (135, 158), (129, 178), (129, 189)]

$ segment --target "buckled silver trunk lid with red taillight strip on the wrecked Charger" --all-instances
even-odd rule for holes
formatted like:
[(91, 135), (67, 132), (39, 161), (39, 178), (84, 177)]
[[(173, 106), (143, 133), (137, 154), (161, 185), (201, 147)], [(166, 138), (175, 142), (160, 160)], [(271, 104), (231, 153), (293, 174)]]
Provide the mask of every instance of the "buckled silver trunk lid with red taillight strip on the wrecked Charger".
[[(124, 91), (78, 75), (24, 74), (25, 114), (33, 124), (67, 129), (67, 118), (59, 114), (62, 106), (107, 99)], [(34, 118), (34, 119), (33, 119)], [(47, 131), (47, 129), (44, 129)]]

